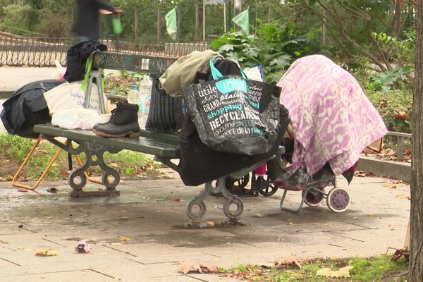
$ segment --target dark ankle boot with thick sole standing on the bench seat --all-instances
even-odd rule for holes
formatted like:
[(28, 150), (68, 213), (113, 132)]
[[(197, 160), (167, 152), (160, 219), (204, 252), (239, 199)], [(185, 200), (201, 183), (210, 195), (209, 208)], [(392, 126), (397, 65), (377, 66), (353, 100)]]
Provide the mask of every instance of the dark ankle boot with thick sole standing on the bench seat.
[(138, 105), (120, 102), (116, 109), (111, 111), (110, 121), (97, 123), (92, 132), (103, 137), (139, 137)]

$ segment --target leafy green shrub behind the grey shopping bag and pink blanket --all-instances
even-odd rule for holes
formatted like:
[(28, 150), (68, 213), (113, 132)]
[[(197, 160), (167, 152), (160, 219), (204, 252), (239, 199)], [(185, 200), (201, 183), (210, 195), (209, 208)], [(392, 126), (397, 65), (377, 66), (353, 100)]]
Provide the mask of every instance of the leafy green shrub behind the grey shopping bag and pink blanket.
[(215, 39), (211, 48), (243, 68), (262, 65), (268, 82), (277, 82), (295, 59), (320, 50), (314, 39), (280, 20), (259, 23), (256, 35), (226, 33)]

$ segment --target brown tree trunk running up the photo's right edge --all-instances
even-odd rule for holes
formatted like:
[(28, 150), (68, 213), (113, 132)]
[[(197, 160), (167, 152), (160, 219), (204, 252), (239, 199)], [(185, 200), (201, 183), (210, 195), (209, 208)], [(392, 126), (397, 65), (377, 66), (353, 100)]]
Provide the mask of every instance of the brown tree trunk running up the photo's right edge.
[(417, 4), (415, 90), (412, 103), (412, 180), (409, 282), (423, 281), (423, 1)]

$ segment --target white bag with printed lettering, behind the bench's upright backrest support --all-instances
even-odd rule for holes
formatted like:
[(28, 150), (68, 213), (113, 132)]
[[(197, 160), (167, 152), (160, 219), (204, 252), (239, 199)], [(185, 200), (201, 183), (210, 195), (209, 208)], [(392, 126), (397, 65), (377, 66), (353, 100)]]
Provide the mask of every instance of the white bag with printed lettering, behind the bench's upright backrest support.
[[(63, 109), (84, 109), (85, 90), (81, 89), (82, 81), (65, 82), (52, 90), (44, 92), (50, 114)], [(106, 98), (103, 98), (106, 101)], [(90, 107), (94, 111), (100, 112), (99, 96), (97, 85), (91, 87)]]

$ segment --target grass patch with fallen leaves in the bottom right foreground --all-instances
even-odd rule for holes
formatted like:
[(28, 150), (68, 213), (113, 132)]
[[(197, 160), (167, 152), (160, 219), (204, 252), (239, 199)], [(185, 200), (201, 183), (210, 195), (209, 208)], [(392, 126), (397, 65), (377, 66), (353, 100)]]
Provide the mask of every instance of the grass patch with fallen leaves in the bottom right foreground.
[[(407, 262), (391, 262), (391, 256), (379, 255), (376, 257), (350, 259), (312, 259), (300, 262), (298, 266), (278, 264), (270, 268), (258, 265), (240, 264), (224, 271), (224, 276), (238, 278), (241, 281), (263, 282), (388, 282), (407, 281)], [(290, 264), (291, 265), (291, 264)], [(319, 269), (329, 268), (337, 271), (344, 266), (353, 266), (350, 277), (319, 276)]]

